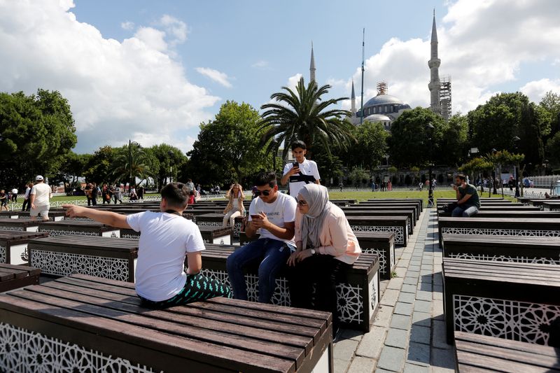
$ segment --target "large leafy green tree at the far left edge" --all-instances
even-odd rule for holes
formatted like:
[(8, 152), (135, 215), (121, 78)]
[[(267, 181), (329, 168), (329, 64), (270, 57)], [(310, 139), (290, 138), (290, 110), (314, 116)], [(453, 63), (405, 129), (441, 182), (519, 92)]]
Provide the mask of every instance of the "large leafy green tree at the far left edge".
[(57, 91), (0, 93), (0, 179), (22, 186), (34, 174), (54, 176), (76, 145), (70, 105)]

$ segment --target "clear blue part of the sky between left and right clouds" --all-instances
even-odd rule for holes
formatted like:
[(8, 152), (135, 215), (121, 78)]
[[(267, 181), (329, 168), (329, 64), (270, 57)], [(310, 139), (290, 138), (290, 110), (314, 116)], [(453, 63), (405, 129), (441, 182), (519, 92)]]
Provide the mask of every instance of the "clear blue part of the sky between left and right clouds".
[[(442, 3), (435, 5), (441, 16)], [(134, 30), (120, 27), (125, 21), (149, 26), (168, 14), (186, 22), (188, 40), (176, 51), (188, 80), (223, 99), (246, 101), (258, 107), (295, 73), (304, 73), (304, 78), (309, 79), (311, 41), (317, 79), (322, 83), (328, 78), (347, 80), (360, 65), (363, 27), (368, 55), (391, 37), (427, 38), (433, 3), (348, 1), (344, 6), (337, 1), (77, 0), (72, 11), (78, 20), (97, 27), (105, 38), (117, 40), (134, 34)], [(267, 62), (267, 66), (253, 66), (258, 62)], [(199, 66), (231, 76), (232, 87), (201, 76), (195, 70)], [(337, 91), (349, 96), (345, 90)]]

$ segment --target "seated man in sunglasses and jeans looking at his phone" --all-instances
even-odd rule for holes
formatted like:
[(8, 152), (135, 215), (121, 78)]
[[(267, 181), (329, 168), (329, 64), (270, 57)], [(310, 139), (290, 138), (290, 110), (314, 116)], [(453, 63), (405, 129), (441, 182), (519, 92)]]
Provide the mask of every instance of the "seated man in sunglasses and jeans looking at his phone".
[(260, 238), (237, 249), (226, 262), (236, 299), (247, 300), (244, 267), (260, 261), (258, 267), (258, 301), (270, 303), (279, 269), (286, 265), (295, 249), (295, 207), (293, 197), (278, 191), (274, 171), (262, 171), (255, 179), (255, 199), (249, 206), (247, 237), (260, 229)]

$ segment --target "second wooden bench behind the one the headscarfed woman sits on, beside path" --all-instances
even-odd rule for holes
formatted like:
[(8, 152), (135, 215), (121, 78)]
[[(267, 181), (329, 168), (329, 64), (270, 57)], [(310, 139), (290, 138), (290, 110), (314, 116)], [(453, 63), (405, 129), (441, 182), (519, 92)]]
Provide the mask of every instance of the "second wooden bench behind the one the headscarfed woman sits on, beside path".
[(347, 216), (354, 233), (393, 232), (395, 244), (407, 246), (408, 224), (406, 216)]

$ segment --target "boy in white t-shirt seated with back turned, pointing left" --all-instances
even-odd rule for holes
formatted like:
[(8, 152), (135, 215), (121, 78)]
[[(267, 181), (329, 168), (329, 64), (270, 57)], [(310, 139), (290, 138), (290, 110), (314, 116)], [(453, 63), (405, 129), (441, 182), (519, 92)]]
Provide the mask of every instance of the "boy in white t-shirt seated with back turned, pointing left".
[[(136, 291), (150, 307), (169, 307), (213, 297), (231, 297), (219, 281), (200, 274), (204, 241), (197, 225), (183, 218), (188, 202), (183, 183), (162, 188), (162, 212), (144, 211), (129, 216), (64, 205), (66, 215), (97, 220), (112, 227), (141, 232), (136, 267)], [(188, 269), (185, 273), (185, 257)]]

